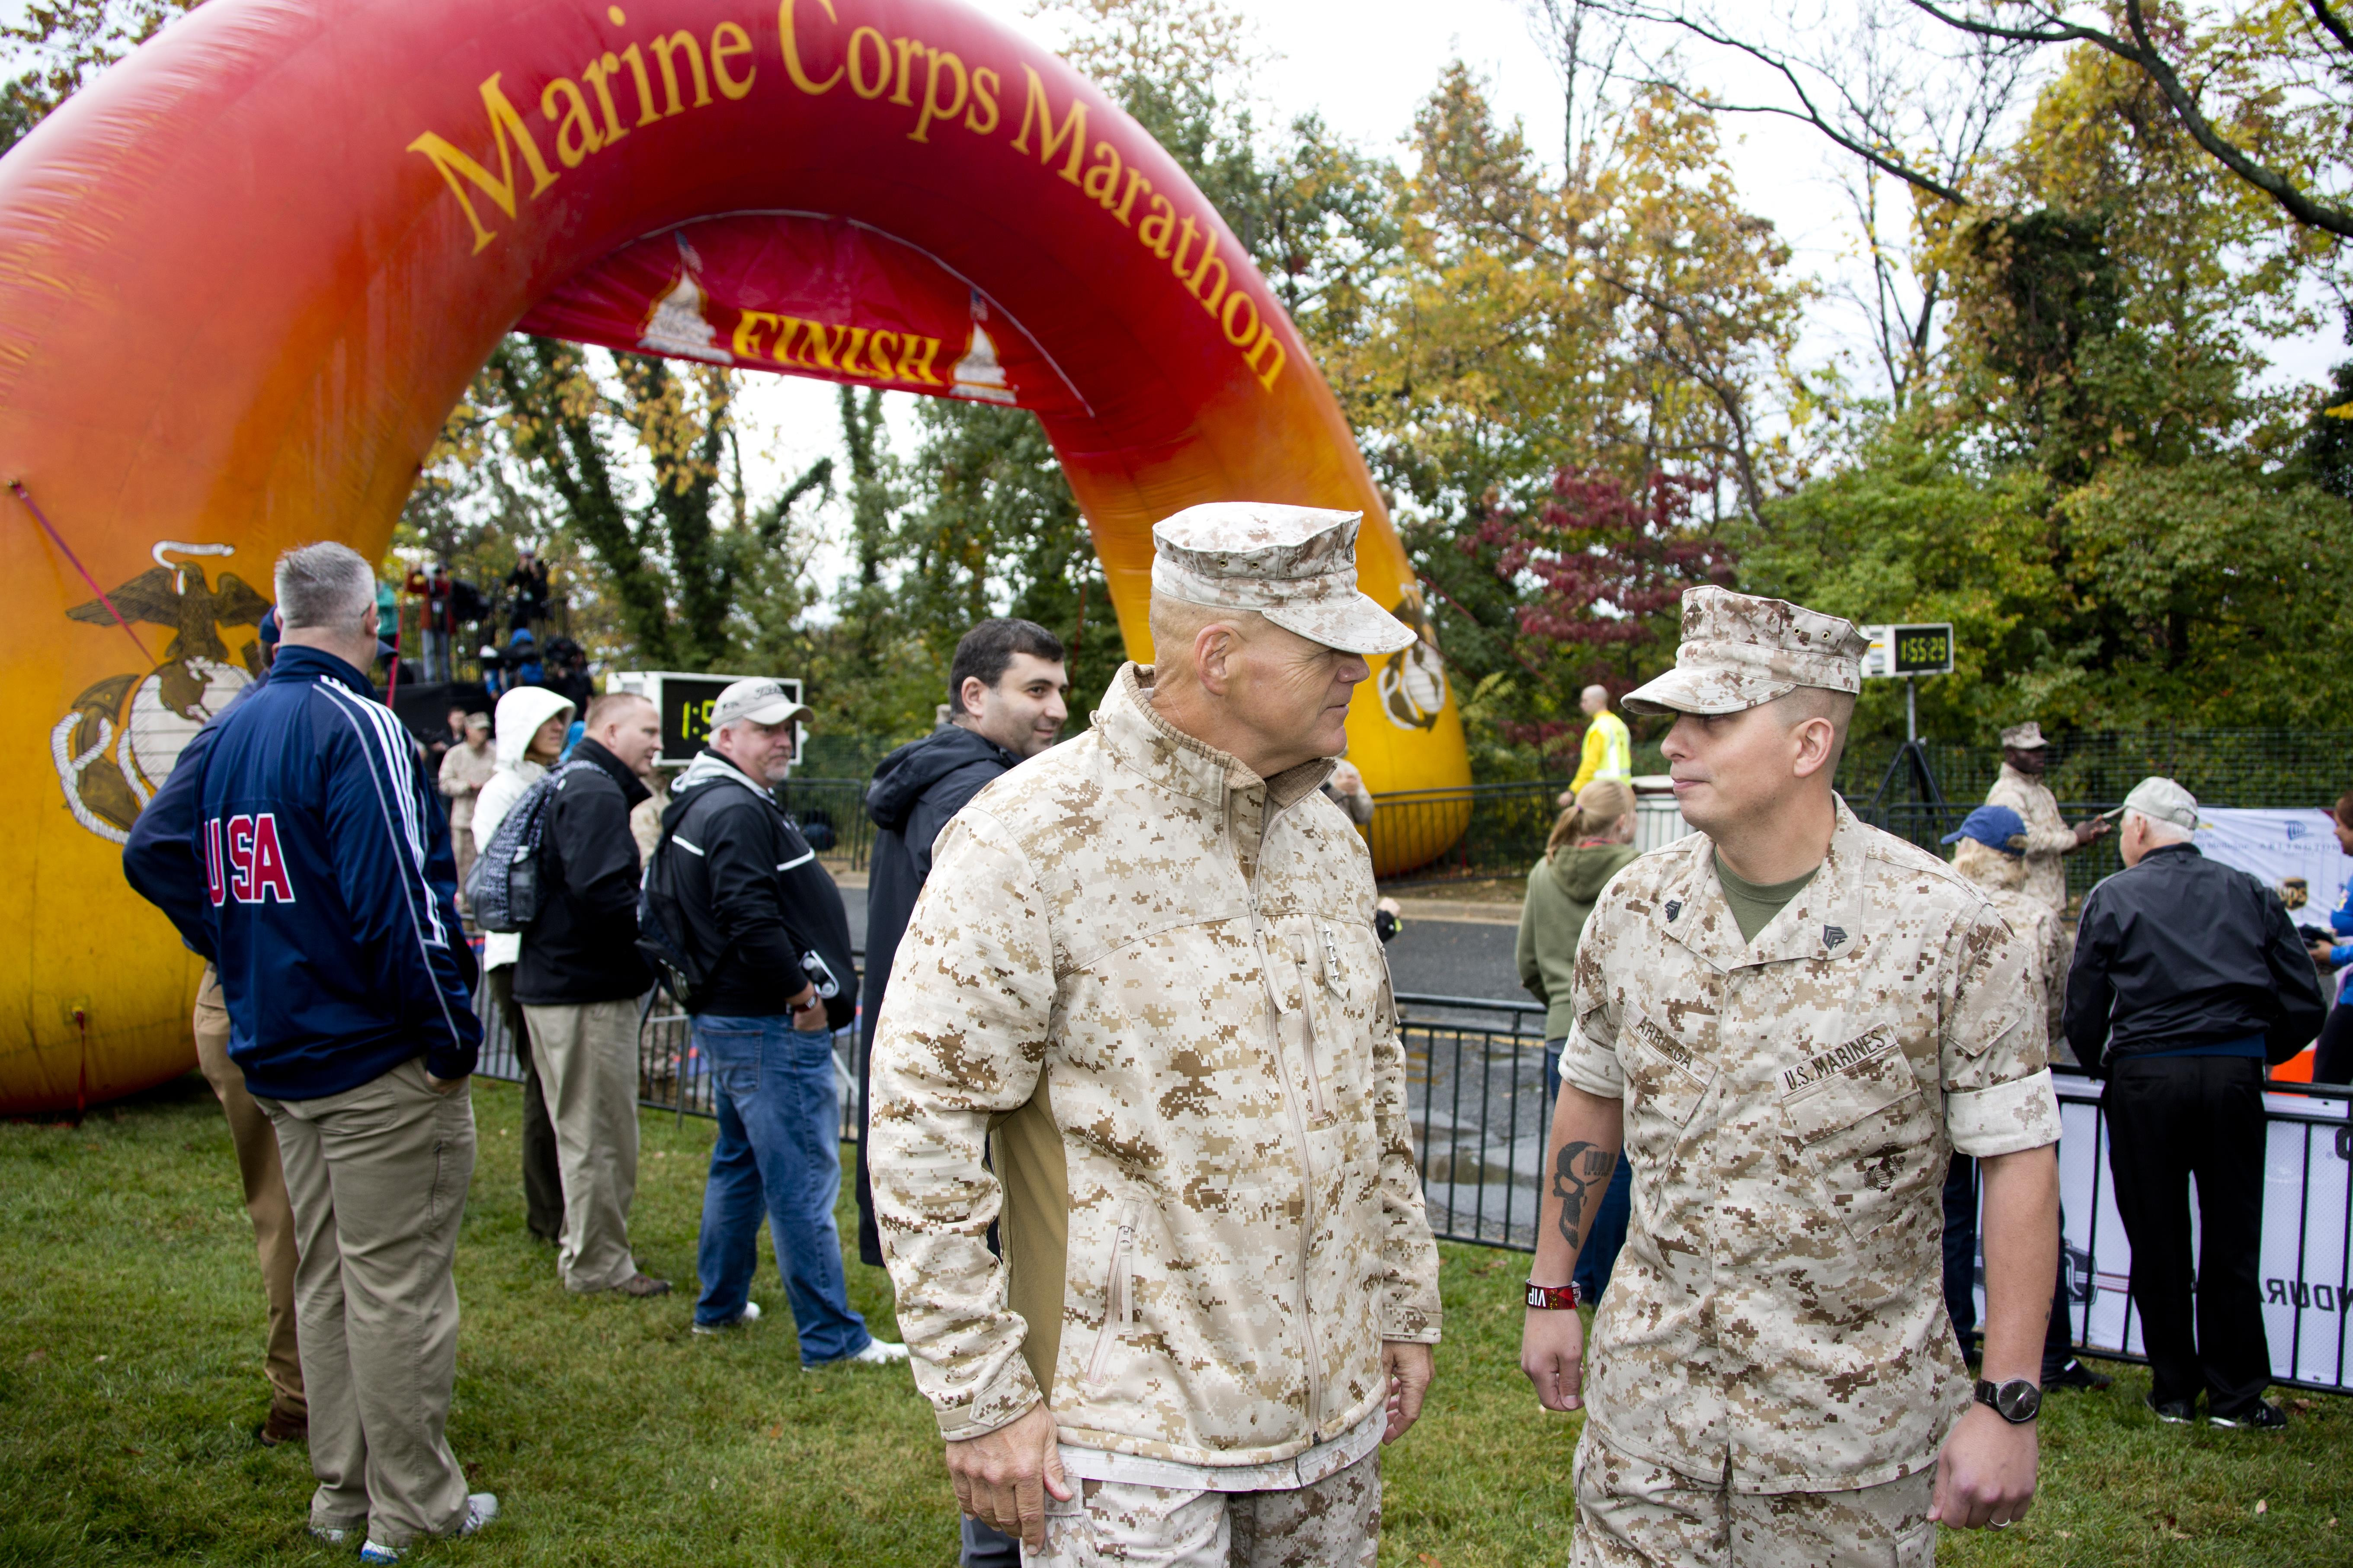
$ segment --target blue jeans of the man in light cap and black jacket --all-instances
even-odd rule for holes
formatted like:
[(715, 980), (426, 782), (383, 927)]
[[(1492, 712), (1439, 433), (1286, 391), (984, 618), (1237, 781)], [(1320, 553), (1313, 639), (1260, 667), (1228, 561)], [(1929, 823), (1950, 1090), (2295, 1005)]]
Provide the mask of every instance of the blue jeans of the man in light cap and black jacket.
[(842, 1190), (842, 1107), (833, 1037), (791, 1018), (694, 1020), (694, 1048), (718, 1081), (720, 1140), (704, 1187), (704, 1281), (696, 1324), (744, 1312), (760, 1260), (760, 1215), (776, 1239), (776, 1269), (800, 1328), (800, 1363), (854, 1356), (873, 1340), (849, 1309), (833, 1199)]

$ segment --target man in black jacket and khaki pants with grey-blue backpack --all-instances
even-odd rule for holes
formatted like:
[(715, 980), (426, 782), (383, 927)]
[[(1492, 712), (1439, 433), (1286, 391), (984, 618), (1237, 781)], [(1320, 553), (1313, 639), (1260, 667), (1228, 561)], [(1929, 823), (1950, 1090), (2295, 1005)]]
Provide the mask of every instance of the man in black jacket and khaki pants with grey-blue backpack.
[(631, 809), (649, 795), (661, 715), (612, 691), (588, 705), (539, 856), (539, 919), (522, 933), (515, 1001), (555, 1119), (565, 1178), (565, 1288), (661, 1295), (638, 1269), (628, 1206), (638, 1194), (638, 999), (654, 976), (638, 954), (638, 839)]

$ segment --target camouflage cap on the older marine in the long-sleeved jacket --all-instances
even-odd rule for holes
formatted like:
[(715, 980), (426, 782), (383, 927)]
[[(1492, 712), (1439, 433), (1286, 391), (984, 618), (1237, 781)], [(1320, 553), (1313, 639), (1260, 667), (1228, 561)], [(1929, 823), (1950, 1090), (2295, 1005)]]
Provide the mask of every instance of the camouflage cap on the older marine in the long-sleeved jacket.
[(1252, 609), (1344, 654), (1395, 654), (1412, 628), (1355, 585), (1365, 512), (1266, 501), (1209, 501), (1153, 524), (1153, 592), (1212, 609)]

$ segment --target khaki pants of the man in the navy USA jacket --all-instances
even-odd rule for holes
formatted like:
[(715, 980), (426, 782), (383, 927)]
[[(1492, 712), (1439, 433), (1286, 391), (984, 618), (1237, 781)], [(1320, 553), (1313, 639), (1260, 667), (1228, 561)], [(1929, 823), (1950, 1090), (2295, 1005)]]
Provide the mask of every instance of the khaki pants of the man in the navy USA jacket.
[(294, 1307), (311, 1389), (311, 1523), (386, 1547), (466, 1521), (449, 1453), (456, 1227), (473, 1180), (471, 1084), (424, 1058), (320, 1100), (256, 1100), (278, 1124), (301, 1239)]

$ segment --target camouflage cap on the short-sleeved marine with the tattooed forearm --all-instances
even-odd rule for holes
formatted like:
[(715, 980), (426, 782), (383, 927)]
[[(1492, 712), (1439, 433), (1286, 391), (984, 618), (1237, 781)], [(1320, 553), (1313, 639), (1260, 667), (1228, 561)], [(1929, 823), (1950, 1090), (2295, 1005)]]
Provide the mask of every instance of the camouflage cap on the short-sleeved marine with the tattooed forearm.
[(1635, 686), (1626, 712), (1741, 712), (1798, 686), (1864, 689), (1864, 649), (1852, 621), (1729, 588), (1682, 590), (1675, 668)]

